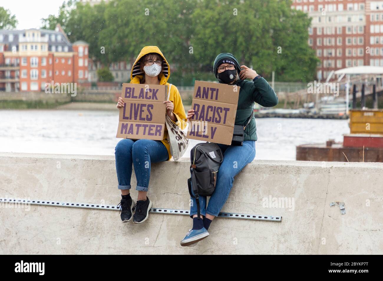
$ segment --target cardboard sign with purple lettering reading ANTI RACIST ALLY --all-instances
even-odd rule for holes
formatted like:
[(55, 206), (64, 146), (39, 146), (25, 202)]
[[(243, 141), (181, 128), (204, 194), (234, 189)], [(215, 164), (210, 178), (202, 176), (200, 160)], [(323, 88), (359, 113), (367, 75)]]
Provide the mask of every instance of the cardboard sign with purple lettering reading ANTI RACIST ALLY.
[(195, 81), (187, 137), (230, 145), (237, 113), (239, 86)]

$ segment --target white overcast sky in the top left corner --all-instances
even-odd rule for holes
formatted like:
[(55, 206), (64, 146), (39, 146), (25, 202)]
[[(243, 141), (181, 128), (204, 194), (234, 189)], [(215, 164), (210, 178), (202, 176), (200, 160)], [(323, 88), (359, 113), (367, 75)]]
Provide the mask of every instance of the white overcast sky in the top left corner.
[(64, 0), (0, 0), (0, 6), (16, 15), (17, 29), (40, 28), (41, 18), (58, 15)]

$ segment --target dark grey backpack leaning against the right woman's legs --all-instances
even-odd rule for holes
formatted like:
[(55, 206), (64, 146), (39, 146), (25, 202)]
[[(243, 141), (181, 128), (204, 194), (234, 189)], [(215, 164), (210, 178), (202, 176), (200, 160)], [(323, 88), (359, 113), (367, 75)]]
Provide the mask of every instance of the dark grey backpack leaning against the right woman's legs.
[[(189, 193), (197, 202), (198, 218), (200, 217), (201, 196), (211, 196), (214, 192), (218, 169), (223, 161), (223, 153), (216, 143), (198, 143), (190, 151)], [(193, 193), (191, 192), (193, 188)]]

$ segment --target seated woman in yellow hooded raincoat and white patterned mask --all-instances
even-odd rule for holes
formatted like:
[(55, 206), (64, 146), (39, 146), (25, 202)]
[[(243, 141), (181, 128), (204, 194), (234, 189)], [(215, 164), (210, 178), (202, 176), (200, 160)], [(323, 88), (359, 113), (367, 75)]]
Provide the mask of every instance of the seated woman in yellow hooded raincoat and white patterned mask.
[[(130, 83), (169, 86), (167, 82), (169, 77), (170, 65), (160, 49), (157, 46), (142, 48), (132, 67)], [(166, 114), (172, 122), (185, 128), (185, 109), (176, 86), (171, 86), (169, 100), (164, 101), (164, 103), (166, 103)], [(117, 108), (120, 109), (121, 107), (124, 107), (124, 102), (119, 97)], [(133, 223), (143, 223), (148, 218), (149, 210), (152, 208), (152, 202), (147, 197), (151, 163), (167, 161), (172, 158), (167, 135), (165, 126), (164, 138), (161, 141), (123, 139), (118, 142), (115, 148), (118, 189), (121, 190), (122, 197), (119, 205), (121, 206), (121, 220), (124, 223), (132, 219), (134, 202), (129, 193), (132, 165), (137, 179), (136, 190), (138, 190)]]

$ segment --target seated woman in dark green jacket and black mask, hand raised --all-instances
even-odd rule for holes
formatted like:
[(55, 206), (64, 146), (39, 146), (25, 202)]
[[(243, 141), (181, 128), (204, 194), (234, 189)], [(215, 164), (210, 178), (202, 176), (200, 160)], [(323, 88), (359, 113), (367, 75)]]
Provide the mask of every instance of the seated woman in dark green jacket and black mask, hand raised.
[[(229, 53), (219, 54), (214, 61), (213, 71), (219, 83), (241, 87), (239, 90), (235, 125), (246, 125), (252, 111), (254, 111), (254, 102), (265, 107), (272, 107), (278, 104), (278, 97), (267, 81), (258, 75), (255, 70), (246, 65), (240, 66), (234, 55)], [(250, 79), (250, 81), (246, 79)], [(194, 110), (188, 110), (187, 119), (190, 120), (193, 115)], [(197, 218), (195, 198), (190, 197), (193, 201), (190, 208), (193, 227), (181, 241), (181, 246), (193, 246), (198, 241), (209, 236), (208, 228), (210, 223), (214, 217), (218, 216), (228, 199), (234, 177), (255, 158), (256, 140), (257, 128), (255, 127), (255, 118), (252, 116), (249, 125), (244, 130), (243, 146), (218, 144), (224, 156), (218, 171), (215, 191), (210, 197), (208, 205), (206, 197), (199, 197), (200, 218)]]

